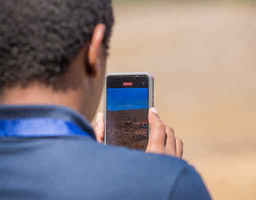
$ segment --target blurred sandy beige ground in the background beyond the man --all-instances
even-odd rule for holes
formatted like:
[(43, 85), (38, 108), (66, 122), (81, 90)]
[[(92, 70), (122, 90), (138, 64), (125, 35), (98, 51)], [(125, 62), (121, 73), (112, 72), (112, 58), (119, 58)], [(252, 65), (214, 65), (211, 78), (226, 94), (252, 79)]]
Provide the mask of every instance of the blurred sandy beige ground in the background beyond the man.
[(114, 4), (108, 72), (152, 73), (214, 199), (256, 199), (256, 3), (145, 2)]

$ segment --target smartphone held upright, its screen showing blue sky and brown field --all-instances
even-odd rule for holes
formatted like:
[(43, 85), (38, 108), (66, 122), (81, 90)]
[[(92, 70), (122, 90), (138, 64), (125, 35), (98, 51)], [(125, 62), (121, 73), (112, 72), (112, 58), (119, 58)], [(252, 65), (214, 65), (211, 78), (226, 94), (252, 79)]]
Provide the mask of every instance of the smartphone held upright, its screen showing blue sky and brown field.
[(149, 73), (112, 73), (106, 77), (104, 143), (146, 150), (154, 106), (154, 77)]

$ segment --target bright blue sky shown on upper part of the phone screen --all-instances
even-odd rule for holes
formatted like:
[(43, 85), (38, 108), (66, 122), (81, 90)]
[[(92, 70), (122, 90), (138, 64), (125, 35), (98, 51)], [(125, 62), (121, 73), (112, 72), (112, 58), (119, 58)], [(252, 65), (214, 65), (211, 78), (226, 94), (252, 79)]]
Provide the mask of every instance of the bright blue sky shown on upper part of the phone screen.
[(148, 88), (107, 88), (107, 110), (148, 108)]

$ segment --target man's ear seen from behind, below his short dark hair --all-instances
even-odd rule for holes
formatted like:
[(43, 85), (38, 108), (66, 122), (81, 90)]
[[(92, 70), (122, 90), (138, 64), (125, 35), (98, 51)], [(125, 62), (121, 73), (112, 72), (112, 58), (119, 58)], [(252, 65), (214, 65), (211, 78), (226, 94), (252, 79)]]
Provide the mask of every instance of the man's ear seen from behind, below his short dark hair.
[(91, 38), (91, 43), (88, 50), (88, 57), (87, 57), (87, 72), (91, 76), (97, 76), (100, 71), (100, 61), (101, 56), (101, 44), (105, 34), (105, 25), (104, 24), (97, 24), (94, 28), (93, 35)]

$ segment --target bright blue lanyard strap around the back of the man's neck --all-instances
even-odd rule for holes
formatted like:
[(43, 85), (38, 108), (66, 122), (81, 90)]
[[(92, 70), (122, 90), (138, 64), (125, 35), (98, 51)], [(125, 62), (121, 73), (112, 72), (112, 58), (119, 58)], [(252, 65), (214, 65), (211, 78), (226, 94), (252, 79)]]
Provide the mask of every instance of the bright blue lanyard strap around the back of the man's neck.
[(89, 136), (93, 133), (82, 130), (78, 125), (63, 119), (18, 118), (0, 119), (0, 136), (4, 137), (51, 137), (51, 136)]

